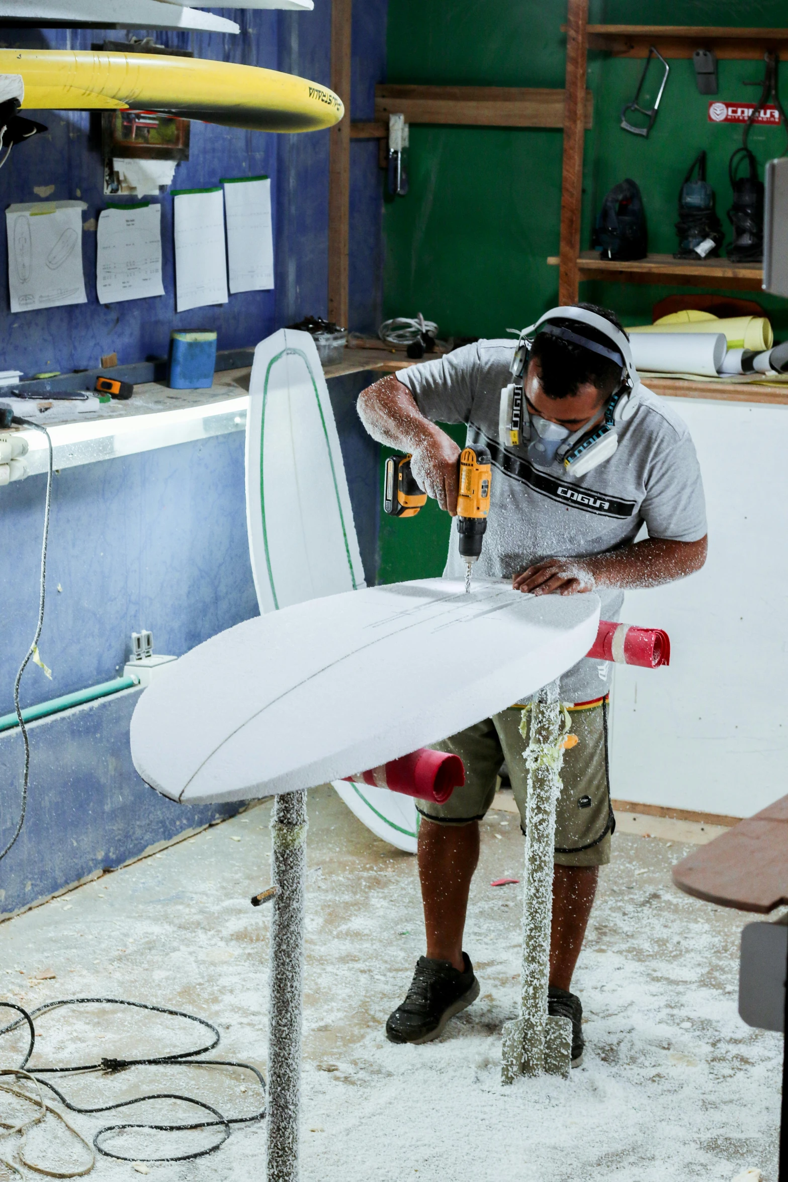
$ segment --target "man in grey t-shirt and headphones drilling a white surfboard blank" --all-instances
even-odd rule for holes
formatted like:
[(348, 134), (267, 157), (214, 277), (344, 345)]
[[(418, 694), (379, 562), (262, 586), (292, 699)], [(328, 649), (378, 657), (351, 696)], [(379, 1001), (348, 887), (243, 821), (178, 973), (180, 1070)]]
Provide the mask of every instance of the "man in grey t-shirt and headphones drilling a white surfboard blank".
[[(507, 430), (504, 414), (517, 385), (519, 439)], [(467, 444), (489, 449), (493, 492), (476, 578), (512, 579), (532, 595), (594, 591), (603, 618), (618, 619), (626, 587), (669, 583), (705, 561), (703, 486), (689, 431), (640, 384), (629, 338), (605, 309), (553, 309), (520, 342), (480, 340), (385, 377), (362, 392), (358, 410), (373, 439), (411, 453), (413, 476), (452, 515), (460, 448), (437, 423), (464, 422)], [(649, 537), (636, 543), (644, 525)], [(452, 531), (444, 573), (462, 579), (463, 567)], [(483, 652), (469, 656), (484, 660)], [(565, 752), (556, 810), (548, 1008), (572, 1019), (575, 1066), (582, 1008), (569, 986), (614, 829), (608, 668), (586, 658), (560, 682), (579, 742)], [(386, 1024), (393, 1043), (437, 1038), (478, 995), (462, 947), (478, 821), (504, 759), (525, 820), (521, 710), (513, 703), (436, 743), (463, 759), (465, 785), (444, 805), (418, 801), (426, 955)]]

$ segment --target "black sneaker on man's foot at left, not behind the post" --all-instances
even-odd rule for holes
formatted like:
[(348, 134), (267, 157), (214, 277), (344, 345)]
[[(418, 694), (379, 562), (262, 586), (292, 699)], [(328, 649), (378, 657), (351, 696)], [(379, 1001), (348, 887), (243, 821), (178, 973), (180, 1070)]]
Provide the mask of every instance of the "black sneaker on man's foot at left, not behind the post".
[(451, 961), (434, 961), (419, 956), (408, 996), (386, 1022), (390, 1043), (429, 1043), (443, 1027), (478, 996), (478, 981), (468, 953), (463, 953), (465, 970)]

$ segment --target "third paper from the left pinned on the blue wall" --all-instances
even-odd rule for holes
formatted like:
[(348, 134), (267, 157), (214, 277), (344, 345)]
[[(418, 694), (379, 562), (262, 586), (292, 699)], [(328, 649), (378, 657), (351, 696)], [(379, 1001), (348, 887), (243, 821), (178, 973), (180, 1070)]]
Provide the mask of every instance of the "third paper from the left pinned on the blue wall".
[(178, 312), (227, 304), (224, 197), (221, 188), (172, 190)]

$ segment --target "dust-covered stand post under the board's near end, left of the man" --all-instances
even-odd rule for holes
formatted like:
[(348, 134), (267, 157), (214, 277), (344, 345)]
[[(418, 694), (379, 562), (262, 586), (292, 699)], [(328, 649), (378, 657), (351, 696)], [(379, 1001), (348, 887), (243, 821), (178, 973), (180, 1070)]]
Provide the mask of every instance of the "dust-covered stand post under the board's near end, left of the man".
[(268, 1012), (267, 1182), (298, 1182), (306, 792), (274, 798)]

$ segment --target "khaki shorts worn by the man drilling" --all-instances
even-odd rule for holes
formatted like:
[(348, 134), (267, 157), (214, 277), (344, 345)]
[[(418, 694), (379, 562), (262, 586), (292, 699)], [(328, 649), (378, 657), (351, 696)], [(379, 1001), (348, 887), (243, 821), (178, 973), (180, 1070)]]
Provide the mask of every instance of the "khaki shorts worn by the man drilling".
[[(571, 732), (578, 742), (564, 752), (562, 790), (555, 811), (555, 862), (561, 866), (604, 866), (610, 862), (616, 818), (610, 803), (607, 708), (607, 697), (568, 707)], [(460, 755), (465, 765), (465, 782), (454, 790), (444, 805), (418, 800), (416, 807), (422, 817), (444, 825), (481, 820), (493, 804), (497, 774), (506, 759), (525, 833), (528, 740), (520, 734), (521, 716), (522, 707), (512, 706), (432, 745), (436, 751)]]

